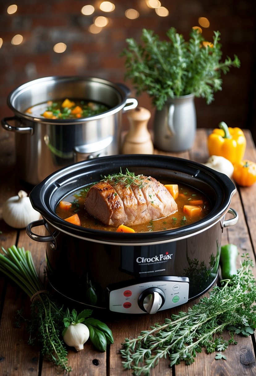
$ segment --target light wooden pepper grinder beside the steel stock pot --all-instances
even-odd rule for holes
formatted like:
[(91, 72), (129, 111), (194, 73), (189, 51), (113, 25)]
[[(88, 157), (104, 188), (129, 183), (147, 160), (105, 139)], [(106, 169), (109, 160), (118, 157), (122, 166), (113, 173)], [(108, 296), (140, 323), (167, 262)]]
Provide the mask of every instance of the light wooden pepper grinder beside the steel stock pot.
[(148, 131), (151, 113), (144, 107), (127, 112), (130, 130), (125, 136), (122, 154), (154, 154), (154, 146)]

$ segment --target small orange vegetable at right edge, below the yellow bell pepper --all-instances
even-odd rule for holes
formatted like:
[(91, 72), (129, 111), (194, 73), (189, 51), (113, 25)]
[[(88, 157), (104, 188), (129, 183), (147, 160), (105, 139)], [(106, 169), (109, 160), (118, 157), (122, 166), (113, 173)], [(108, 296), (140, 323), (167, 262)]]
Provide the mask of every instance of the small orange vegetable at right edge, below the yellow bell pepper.
[(256, 182), (256, 163), (245, 159), (234, 164), (233, 179), (241, 186), (248, 187)]

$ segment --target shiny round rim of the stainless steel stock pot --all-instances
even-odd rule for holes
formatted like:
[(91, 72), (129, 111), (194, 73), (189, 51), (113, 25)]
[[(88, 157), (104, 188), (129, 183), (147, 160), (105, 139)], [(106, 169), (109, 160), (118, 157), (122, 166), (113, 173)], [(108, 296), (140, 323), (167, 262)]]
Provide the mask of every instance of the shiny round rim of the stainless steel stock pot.
[[(24, 112), (19, 111), (15, 106), (13, 105), (15, 99), (22, 95), (24, 92), (29, 90), (34, 85), (40, 85), (40, 84), (48, 84), (50, 82), (79, 82), (83, 80), (84, 82), (95, 82), (99, 83), (104, 86), (108, 86), (119, 96), (120, 103), (118, 103), (116, 106), (110, 108), (108, 111), (102, 112), (98, 115), (93, 115), (91, 117), (85, 117), (85, 118), (77, 118), (77, 119), (45, 119), (45, 118), (36, 118), (33, 116), (30, 116), (28, 114), (25, 114)], [(119, 112), (126, 104), (127, 96), (130, 94), (129, 89), (123, 85), (122, 83), (113, 83), (111, 81), (97, 78), (97, 77), (90, 77), (90, 76), (47, 76), (47, 77), (41, 77), (35, 80), (31, 80), (29, 82), (23, 83), (20, 86), (17, 86), (15, 89), (13, 89), (8, 97), (7, 97), (7, 105), (8, 107), (15, 113), (15, 115), (19, 118), (26, 118), (26, 120), (33, 121), (35, 123), (42, 123), (42, 124), (80, 124), (84, 123), (85, 121), (92, 121), (92, 120), (98, 120), (101, 118), (104, 118), (106, 116), (111, 116), (113, 114), (116, 114), (116, 112)]]

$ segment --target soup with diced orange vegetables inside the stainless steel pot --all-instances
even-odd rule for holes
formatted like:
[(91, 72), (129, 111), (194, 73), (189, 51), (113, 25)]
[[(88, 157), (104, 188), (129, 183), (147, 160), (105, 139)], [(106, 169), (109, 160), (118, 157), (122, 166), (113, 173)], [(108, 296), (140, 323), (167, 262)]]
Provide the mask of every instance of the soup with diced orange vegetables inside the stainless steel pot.
[(66, 98), (39, 103), (28, 108), (25, 114), (47, 119), (78, 119), (101, 114), (108, 110), (109, 107), (102, 103)]

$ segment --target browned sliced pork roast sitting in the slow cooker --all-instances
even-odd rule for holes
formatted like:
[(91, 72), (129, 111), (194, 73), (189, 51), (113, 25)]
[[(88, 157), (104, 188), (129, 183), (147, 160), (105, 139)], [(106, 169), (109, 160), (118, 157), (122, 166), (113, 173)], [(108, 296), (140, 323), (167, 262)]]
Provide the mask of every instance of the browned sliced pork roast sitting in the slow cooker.
[(150, 176), (140, 176), (139, 183), (134, 180), (130, 185), (112, 179), (96, 183), (84, 206), (90, 215), (110, 226), (142, 224), (178, 210), (166, 187)]

